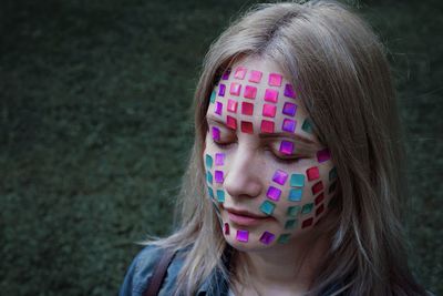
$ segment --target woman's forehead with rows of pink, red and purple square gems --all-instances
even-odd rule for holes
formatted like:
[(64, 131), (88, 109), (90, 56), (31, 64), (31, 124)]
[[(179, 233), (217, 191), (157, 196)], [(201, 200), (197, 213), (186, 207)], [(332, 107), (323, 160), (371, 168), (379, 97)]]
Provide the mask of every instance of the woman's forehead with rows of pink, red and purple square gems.
[(298, 89), (271, 61), (244, 59), (214, 88), (207, 118), (244, 133), (293, 133), (316, 140)]

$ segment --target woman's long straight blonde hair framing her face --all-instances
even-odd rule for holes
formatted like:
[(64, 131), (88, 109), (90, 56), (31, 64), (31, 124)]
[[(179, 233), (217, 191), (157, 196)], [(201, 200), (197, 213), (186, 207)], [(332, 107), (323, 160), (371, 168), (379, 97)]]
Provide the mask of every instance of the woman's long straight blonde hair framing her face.
[(179, 226), (151, 244), (189, 253), (177, 293), (192, 295), (222, 264), (226, 242), (207, 196), (203, 164), (209, 94), (244, 55), (275, 61), (299, 89), (339, 175), (329, 257), (311, 295), (344, 283), (348, 295), (424, 295), (406, 264), (400, 205), (402, 149), (383, 47), (356, 13), (332, 1), (259, 4), (210, 47), (195, 92), (195, 143), (181, 191)]

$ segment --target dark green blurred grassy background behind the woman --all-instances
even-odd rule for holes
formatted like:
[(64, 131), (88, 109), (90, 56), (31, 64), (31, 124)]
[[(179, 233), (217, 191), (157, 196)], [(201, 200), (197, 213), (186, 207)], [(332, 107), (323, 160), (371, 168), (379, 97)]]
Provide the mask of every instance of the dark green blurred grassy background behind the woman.
[[(115, 295), (171, 231), (210, 42), (254, 1), (0, 4), (0, 294)], [(406, 131), (411, 266), (443, 294), (443, 7), (363, 1)]]

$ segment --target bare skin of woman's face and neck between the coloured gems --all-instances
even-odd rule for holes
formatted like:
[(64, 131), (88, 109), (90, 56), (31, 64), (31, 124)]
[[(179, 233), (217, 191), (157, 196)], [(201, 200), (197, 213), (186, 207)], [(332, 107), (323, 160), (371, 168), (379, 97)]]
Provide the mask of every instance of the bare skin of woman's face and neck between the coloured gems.
[[(241, 75), (235, 78), (238, 68), (246, 69), (244, 79), (239, 79)], [(208, 182), (208, 187), (214, 192), (213, 200), (219, 213), (222, 226), (227, 227), (225, 226), (227, 224), (229, 227), (228, 233), (226, 229), (224, 232), (226, 242), (241, 251), (236, 257), (236, 266), (246, 264), (253, 279), (250, 283), (254, 283), (254, 285), (235, 283), (233, 288), (241, 295), (301, 295), (309, 288), (315, 271), (321, 264), (322, 255), (330, 247), (330, 237), (324, 235), (323, 225), (328, 218), (327, 205), (333, 195), (333, 190), (329, 193), (334, 182), (334, 178), (329, 177), (333, 162), (330, 159), (319, 162), (317, 153), (327, 147), (319, 142), (315, 133), (302, 130), (301, 126), (308, 119), (308, 113), (300, 99), (284, 95), (288, 80), (282, 78), (281, 86), (269, 86), (268, 75), (282, 73), (272, 61), (249, 57), (237, 61), (231, 69), (229, 79), (222, 80), (215, 88), (217, 95), (207, 111), (208, 133), (204, 157), (213, 160), (212, 163), (206, 162), (206, 171), (214, 176), (213, 183)], [(250, 70), (262, 72), (259, 83), (248, 81)], [(230, 94), (231, 83), (241, 84), (238, 96)], [(220, 84), (226, 85), (224, 96), (218, 95)], [(244, 98), (246, 85), (257, 88), (254, 100)], [(277, 102), (264, 100), (266, 89), (279, 92)], [(296, 90), (297, 85), (293, 89)], [(229, 99), (238, 104), (235, 113), (227, 110)], [(223, 104), (222, 114), (216, 113), (217, 102)], [(241, 113), (243, 102), (254, 104), (253, 114)], [(297, 105), (293, 118), (282, 114), (286, 102)], [(264, 116), (264, 104), (276, 106), (275, 118)], [(227, 126), (229, 125), (227, 115), (236, 120), (236, 129)], [(296, 120), (293, 132), (282, 131), (285, 119)], [(275, 122), (275, 133), (261, 131), (262, 120)], [(254, 131), (241, 131), (241, 121), (250, 122)], [(214, 136), (214, 127), (219, 131), (219, 135)], [(293, 143), (292, 153), (285, 154), (280, 151), (282, 141)], [(215, 164), (217, 153), (224, 154), (223, 164)], [(308, 181), (307, 170), (311, 167), (318, 167), (319, 177), (315, 181)], [(215, 171), (223, 172), (223, 180), (215, 181)], [(284, 184), (272, 181), (277, 171), (288, 175)], [(305, 185), (298, 187), (302, 191), (300, 201), (288, 198), (290, 190), (297, 188), (291, 186), (292, 174), (305, 176)], [(320, 181), (323, 190), (313, 194), (312, 186)], [(267, 196), (270, 186), (280, 190), (278, 201)], [(215, 194), (217, 191), (224, 192), (224, 201), (217, 201)], [(316, 203), (316, 198), (321, 193), (324, 197)], [(271, 213), (260, 210), (266, 201), (275, 205)], [(307, 211), (308, 213), (305, 214), (298, 212), (292, 214), (292, 217), (288, 216), (289, 207), (302, 208), (309, 204), (312, 204), (310, 212)], [(319, 207), (323, 210), (318, 210)], [(236, 211), (246, 211), (249, 214)], [(259, 218), (250, 220), (250, 215)], [(288, 221), (291, 221), (289, 225)], [(310, 224), (309, 221), (312, 223)], [(248, 232), (247, 242), (237, 238), (238, 231)], [(260, 242), (265, 232), (274, 235), (274, 239), (266, 244)]]

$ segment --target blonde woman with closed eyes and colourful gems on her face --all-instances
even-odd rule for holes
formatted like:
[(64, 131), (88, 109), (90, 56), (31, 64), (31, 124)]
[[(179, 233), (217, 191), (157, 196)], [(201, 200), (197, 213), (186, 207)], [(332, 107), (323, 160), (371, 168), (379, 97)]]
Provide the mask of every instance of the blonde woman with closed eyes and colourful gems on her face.
[(399, 221), (394, 99), (382, 45), (343, 6), (248, 12), (204, 62), (181, 227), (121, 295), (158, 278), (159, 295), (425, 295)]

